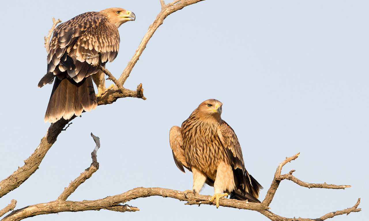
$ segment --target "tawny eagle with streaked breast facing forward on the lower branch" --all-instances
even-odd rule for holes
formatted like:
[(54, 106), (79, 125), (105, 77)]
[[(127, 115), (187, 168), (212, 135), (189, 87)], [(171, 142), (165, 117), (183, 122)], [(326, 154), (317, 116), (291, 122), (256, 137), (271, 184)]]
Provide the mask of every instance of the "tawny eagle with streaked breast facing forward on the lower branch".
[(173, 126), (169, 143), (177, 167), (193, 173), (194, 194), (204, 183), (214, 186), (216, 201), (231, 193), (231, 199), (260, 203), (257, 199), (263, 187), (245, 169), (241, 147), (233, 129), (221, 119), (222, 103), (215, 99), (202, 102), (182, 127)]

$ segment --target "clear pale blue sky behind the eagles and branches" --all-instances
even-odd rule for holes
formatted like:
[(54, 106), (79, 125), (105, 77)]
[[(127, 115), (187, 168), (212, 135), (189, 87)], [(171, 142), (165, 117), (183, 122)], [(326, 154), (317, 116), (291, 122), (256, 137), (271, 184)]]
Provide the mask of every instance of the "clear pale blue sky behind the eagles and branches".
[[(166, 3), (169, 3), (166, 0)], [(52, 85), (44, 36), (51, 18), (63, 22), (86, 11), (123, 7), (136, 21), (123, 24), (120, 52), (107, 69), (119, 77), (149, 25), (159, 0), (3, 1), (1, 19), (0, 179), (23, 166), (49, 123), (44, 113)], [(169, 129), (204, 100), (223, 102), (222, 119), (234, 129), (246, 169), (261, 183), (263, 200), (285, 157), (301, 152), (283, 173), (311, 183), (352, 185), (307, 189), (281, 182), (271, 211), (318, 218), (352, 207), (363, 211), (333, 220), (368, 218), (369, 1), (206, 0), (169, 15), (155, 32), (124, 87), (143, 84), (147, 100), (118, 99), (98, 106), (63, 131), (39, 169), (0, 199), (17, 209), (55, 200), (91, 163), (100, 137), (100, 169), (68, 200), (94, 200), (135, 187), (192, 187), (192, 173), (176, 167)], [(110, 85), (107, 82), (107, 85)], [(206, 186), (201, 194), (213, 194)], [(29, 220), (269, 220), (248, 210), (187, 206), (170, 198), (128, 202), (141, 211), (86, 211)]]

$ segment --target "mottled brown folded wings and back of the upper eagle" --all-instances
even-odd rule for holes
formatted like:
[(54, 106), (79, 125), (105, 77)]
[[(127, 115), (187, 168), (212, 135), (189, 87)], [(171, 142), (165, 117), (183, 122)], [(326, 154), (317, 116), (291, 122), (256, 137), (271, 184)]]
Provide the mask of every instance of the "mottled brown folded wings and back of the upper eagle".
[(49, 44), (47, 73), (38, 87), (51, 82), (55, 76), (67, 71), (69, 77), (79, 83), (99, 71), (92, 64), (99, 58), (86, 59), (88, 53), (101, 51), (101, 62), (111, 62), (119, 50), (118, 28), (109, 23), (99, 12), (87, 12), (58, 25)]

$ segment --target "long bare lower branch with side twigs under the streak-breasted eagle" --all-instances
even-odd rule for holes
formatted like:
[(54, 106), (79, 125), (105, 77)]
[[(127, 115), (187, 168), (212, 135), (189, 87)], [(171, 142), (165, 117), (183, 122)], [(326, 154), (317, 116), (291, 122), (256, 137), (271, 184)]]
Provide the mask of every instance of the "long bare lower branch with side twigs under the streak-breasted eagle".
[[(97, 149), (95, 148), (95, 150)], [(285, 165), (287, 162), (292, 161), (293, 159), (296, 159), (297, 157), (298, 157), (298, 154), (292, 157), (286, 158), (281, 164), (279, 164), (274, 180), (280, 180), (281, 179), (280, 171), (282, 170), (283, 165)], [(86, 179), (90, 177), (87, 174), (84, 174), (84, 175), (82, 174), (81, 176), (84, 176)], [(73, 181), (72, 183), (76, 182), (76, 180)], [(76, 182), (76, 183), (77, 183), (76, 187), (78, 187), (82, 182)], [(275, 185), (274, 182), (272, 182), (270, 189), (276, 189), (274, 188), (273, 185)], [(66, 189), (69, 189), (70, 186), (71, 185), (69, 185)], [(345, 185), (345, 187), (348, 187), (348, 186)], [(324, 186), (323, 188), (330, 189), (330, 186), (329, 185)], [(63, 193), (65, 192), (66, 190)], [(271, 195), (271, 194), (274, 195), (274, 193), (268, 191), (267, 197), (265, 197), (265, 199), (269, 199), (270, 197), (268, 197), (268, 195)], [(187, 201), (186, 203), (187, 205), (201, 205), (201, 204), (211, 205), (212, 204), (210, 202), (211, 196), (208, 196), (208, 195), (197, 194), (196, 196), (194, 196), (193, 194), (187, 194), (187, 197), (186, 197), (184, 196), (184, 192), (178, 191), (178, 190), (164, 189), (164, 188), (159, 188), (159, 187), (152, 187), (152, 188), (137, 187), (125, 193), (118, 194), (115, 196), (108, 196), (108, 197), (105, 197), (104, 199), (98, 199), (98, 200), (65, 201), (65, 200), (60, 200), (60, 199), (66, 199), (65, 196), (63, 198), (59, 196), (58, 200), (51, 201), (49, 203), (40, 203), (40, 204), (35, 204), (32, 206), (27, 206), (19, 210), (14, 210), (12, 213), (7, 215), (3, 219), (3, 221), (22, 220), (24, 218), (35, 216), (35, 215), (59, 213), (59, 212), (65, 212), (65, 211), (86, 211), (86, 210), (100, 210), (100, 209), (107, 209), (107, 210), (119, 211), (119, 212), (138, 211), (139, 210), (138, 208), (127, 206), (124, 203), (127, 203), (128, 201), (131, 201), (134, 199), (150, 197), (150, 196), (170, 197), (170, 198), (177, 199), (180, 201)], [(219, 201), (219, 205), (223, 207), (232, 207), (232, 208), (258, 211), (259, 213), (265, 215), (272, 221), (316, 221), (316, 220), (323, 221), (323, 220), (326, 220), (327, 218), (332, 218), (336, 215), (349, 214), (351, 212), (361, 211), (361, 208), (358, 208), (359, 203), (360, 203), (360, 199), (358, 199), (357, 203), (351, 208), (347, 208), (344, 210), (338, 210), (332, 213), (327, 213), (317, 219), (286, 218), (286, 217), (281, 217), (279, 215), (272, 213), (269, 210), (270, 209), (269, 205), (266, 205), (265, 202), (266, 200), (264, 200), (262, 203), (249, 203), (247, 201), (221, 198)]]

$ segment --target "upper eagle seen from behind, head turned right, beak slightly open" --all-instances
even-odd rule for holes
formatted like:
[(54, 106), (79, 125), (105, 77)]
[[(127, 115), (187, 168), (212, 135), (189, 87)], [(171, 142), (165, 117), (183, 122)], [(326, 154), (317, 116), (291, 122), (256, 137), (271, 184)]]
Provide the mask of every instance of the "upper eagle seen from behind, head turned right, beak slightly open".
[[(119, 50), (118, 28), (134, 20), (131, 11), (107, 8), (77, 15), (56, 27), (48, 49), (47, 73), (38, 83), (41, 88), (55, 78), (45, 122), (70, 119), (96, 108), (96, 96), (107, 89), (104, 73), (94, 66), (99, 64), (99, 57), (89, 56), (100, 52), (103, 67), (112, 62)], [(97, 95), (92, 80), (99, 90)]]

